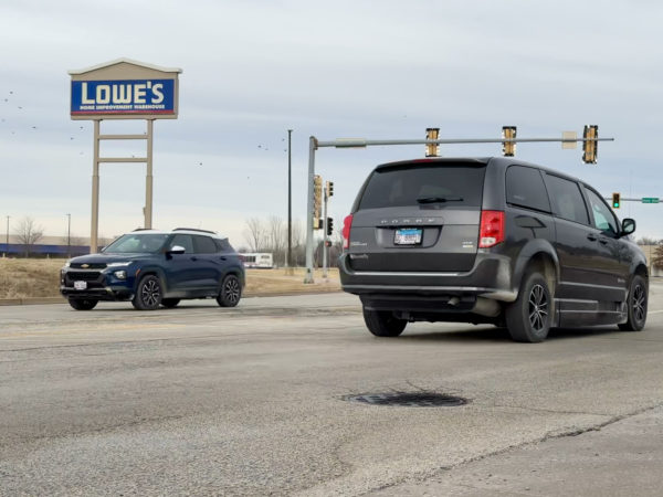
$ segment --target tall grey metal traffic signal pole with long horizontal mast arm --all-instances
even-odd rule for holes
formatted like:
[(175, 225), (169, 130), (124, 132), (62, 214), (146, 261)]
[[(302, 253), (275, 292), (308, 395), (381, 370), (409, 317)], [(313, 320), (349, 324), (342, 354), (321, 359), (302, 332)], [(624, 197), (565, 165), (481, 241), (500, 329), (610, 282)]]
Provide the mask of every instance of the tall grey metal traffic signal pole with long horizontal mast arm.
[[(575, 144), (586, 141), (614, 141), (614, 138), (461, 138), (461, 139), (396, 139), (396, 140), (368, 140), (364, 138), (339, 138), (323, 141), (315, 136), (308, 139), (308, 208), (306, 209), (306, 273), (304, 283), (313, 283), (313, 181), (315, 176), (315, 151), (323, 147), (334, 148), (366, 148), (387, 145), (461, 145), (461, 144), (526, 144), (526, 142), (561, 142)], [(326, 219), (326, 216), (325, 216)], [(326, 221), (325, 221), (326, 222)], [(326, 230), (325, 230), (326, 233)]]

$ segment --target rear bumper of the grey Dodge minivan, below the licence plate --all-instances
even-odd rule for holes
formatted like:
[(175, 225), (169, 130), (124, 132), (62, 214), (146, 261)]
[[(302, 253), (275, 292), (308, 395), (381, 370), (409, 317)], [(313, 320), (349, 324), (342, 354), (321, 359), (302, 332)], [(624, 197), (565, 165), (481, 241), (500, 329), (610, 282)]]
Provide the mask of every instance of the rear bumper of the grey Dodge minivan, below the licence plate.
[(512, 285), (512, 260), (495, 253), (478, 252), (474, 267), (462, 273), (359, 272), (350, 268), (348, 261), (347, 252), (338, 260), (341, 287), (362, 300), (397, 298), (412, 305), (418, 302), (425, 305), (431, 299), (452, 297), (485, 297), (502, 302), (514, 302), (517, 297), (517, 289)]

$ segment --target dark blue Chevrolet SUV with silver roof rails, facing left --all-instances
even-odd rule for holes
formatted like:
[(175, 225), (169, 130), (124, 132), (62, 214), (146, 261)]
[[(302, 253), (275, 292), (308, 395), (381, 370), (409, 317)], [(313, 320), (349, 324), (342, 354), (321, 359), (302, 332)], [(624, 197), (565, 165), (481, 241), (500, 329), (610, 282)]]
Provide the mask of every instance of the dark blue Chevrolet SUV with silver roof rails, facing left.
[(244, 282), (240, 256), (214, 232), (136, 230), (99, 254), (69, 261), (60, 293), (76, 310), (90, 310), (99, 300), (130, 300), (137, 309), (154, 310), (187, 298), (215, 298), (234, 307)]

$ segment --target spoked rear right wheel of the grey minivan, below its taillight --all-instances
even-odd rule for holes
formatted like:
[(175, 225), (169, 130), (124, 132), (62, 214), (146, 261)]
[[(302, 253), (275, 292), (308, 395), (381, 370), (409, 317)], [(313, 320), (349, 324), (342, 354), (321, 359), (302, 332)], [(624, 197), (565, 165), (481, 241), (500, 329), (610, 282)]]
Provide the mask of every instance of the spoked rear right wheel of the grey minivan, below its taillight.
[(538, 272), (525, 273), (516, 302), (506, 308), (506, 327), (515, 341), (544, 341), (552, 322), (548, 282)]

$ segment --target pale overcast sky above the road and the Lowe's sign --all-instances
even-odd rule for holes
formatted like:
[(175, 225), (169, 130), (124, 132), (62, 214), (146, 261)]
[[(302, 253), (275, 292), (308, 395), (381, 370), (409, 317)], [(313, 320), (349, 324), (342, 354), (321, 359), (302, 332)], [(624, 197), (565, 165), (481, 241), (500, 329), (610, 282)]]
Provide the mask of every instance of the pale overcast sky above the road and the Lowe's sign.
[[(0, 2), (0, 232), (30, 215), (49, 235), (90, 235), (93, 126), (70, 119), (69, 70), (119, 57), (180, 67), (179, 118), (158, 120), (154, 225), (200, 226), (244, 245), (244, 220), (305, 218), (308, 137), (560, 136), (598, 124), (581, 149), (520, 144), (516, 156), (604, 195), (662, 197), (663, 8), (655, 1)], [(143, 133), (145, 121), (102, 123)], [(110, 146), (112, 145), (112, 146)], [(102, 155), (144, 155), (144, 142)], [(444, 156), (499, 155), (498, 145)], [(422, 146), (322, 149), (340, 223), (377, 163)], [(102, 165), (99, 234), (143, 224), (145, 166)], [(638, 236), (663, 237), (663, 203), (624, 203)], [(10, 228), (10, 232), (13, 229)]]

